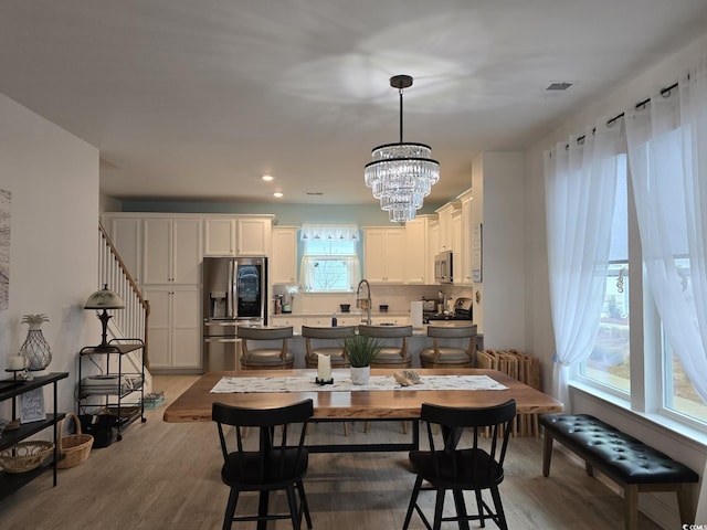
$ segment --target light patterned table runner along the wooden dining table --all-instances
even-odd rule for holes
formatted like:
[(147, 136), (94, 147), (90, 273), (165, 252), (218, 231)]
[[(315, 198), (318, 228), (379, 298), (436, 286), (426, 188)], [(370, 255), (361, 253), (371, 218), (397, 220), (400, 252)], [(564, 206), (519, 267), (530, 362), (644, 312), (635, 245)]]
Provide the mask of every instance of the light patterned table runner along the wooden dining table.
[(488, 375), (423, 375), (421, 384), (401, 386), (392, 375), (371, 375), (368, 384), (354, 384), (348, 370), (334, 370), (334, 384), (319, 385), (312, 375), (285, 378), (223, 377), (211, 389), (212, 394), (252, 392), (352, 392), (352, 391), (424, 391), (424, 390), (508, 390)]

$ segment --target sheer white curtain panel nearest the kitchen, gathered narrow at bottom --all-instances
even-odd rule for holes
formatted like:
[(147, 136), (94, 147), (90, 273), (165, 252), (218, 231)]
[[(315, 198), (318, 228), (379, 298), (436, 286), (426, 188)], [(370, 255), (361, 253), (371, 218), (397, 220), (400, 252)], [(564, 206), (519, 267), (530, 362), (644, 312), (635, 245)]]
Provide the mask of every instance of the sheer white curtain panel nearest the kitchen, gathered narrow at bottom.
[(569, 407), (569, 368), (592, 352), (604, 301), (621, 121), (600, 119), (583, 142), (545, 153), (552, 393)]

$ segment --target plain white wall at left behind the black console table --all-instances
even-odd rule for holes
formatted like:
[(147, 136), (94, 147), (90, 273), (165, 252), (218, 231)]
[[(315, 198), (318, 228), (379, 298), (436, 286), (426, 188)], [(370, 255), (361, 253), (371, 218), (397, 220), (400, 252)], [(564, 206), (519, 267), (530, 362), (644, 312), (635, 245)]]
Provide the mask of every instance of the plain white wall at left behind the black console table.
[[(46, 314), (44, 337), (62, 411), (74, 411), (76, 353), (98, 343), (98, 320), (83, 309), (96, 289), (98, 150), (0, 94), (0, 189), (12, 193), (9, 308), (0, 310), (0, 369), (27, 336), (22, 315)], [(70, 308), (68, 320), (63, 319)], [(49, 389), (48, 407), (52, 405)], [(10, 414), (0, 404), (0, 417)]]

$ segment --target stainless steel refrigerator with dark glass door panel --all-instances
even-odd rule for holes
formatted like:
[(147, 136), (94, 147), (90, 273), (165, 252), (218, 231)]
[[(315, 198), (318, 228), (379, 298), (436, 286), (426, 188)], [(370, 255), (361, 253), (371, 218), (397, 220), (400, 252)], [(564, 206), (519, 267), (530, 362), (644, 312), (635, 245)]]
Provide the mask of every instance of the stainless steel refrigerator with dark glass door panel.
[(267, 258), (203, 258), (203, 365), (235, 370), (239, 326), (267, 325)]

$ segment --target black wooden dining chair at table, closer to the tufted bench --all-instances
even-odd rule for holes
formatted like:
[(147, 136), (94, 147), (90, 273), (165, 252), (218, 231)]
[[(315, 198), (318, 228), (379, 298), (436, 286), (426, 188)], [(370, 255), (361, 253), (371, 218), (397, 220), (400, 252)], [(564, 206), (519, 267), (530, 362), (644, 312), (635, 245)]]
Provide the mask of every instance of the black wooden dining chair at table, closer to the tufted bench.
[[(504, 479), (504, 459), (515, 415), (515, 400), (487, 407), (422, 404), (420, 420), (428, 424), (430, 449), (411, 451), (409, 455), (418, 477), (403, 530), (408, 529), (415, 510), (428, 530), (439, 530), (442, 522), (457, 522), (460, 528), (467, 529), (468, 521), (479, 521), (484, 527), (486, 519), (507, 530), (498, 485)], [(466, 428), (469, 432), (465, 433)], [(423, 481), (429, 485), (423, 487)], [(490, 491), (495, 511), (482, 498), (482, 491), (486, 489)], [(420, 491), (428, 490), (436, 491), (432, 526), (418, 502)], [(455, 517), (442, 517), (447, 490), (454, 498)], [(474, 491), (477, 513), (467, 513), (464, 491)]]

